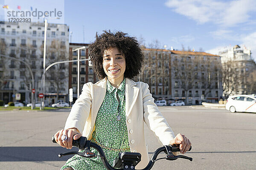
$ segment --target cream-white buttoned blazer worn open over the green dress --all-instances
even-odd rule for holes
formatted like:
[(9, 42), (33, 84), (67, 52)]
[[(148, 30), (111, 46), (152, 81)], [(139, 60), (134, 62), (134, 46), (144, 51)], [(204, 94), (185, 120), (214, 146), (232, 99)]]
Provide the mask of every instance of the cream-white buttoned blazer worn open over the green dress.
[[(106, 90), (107, 77), (95, 84), (92, 82), (84, 84), (79, 99), (70, 111), (64, 129), (75, 127), (82, 132), (82, 136), (90, 140)], [(134, 82), (125, 78), (125, 115), (131, 152), (138, 152), (142, 155), (136, 169), (143, 169), (149, 161), (144, 122), (163, 145), (168, 145), (175, 135), (154, 103), (147, 83)]]

